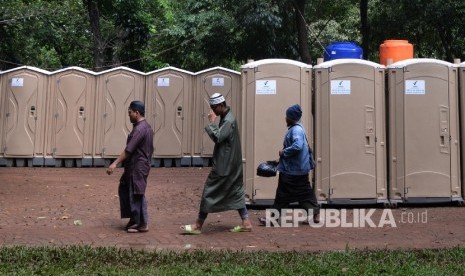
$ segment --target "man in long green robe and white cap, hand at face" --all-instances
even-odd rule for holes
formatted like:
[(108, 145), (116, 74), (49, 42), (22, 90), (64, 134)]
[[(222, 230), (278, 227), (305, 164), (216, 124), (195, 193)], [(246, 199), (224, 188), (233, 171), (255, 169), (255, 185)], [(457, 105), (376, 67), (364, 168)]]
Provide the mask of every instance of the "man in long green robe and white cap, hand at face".
[[(205, 127), (205, 131), (215, 142), (212, 170), (205, 182), (195, 224), (184, 225), (181, 229), (186, 234), (200, 234), (208, 213), (238, 210), (242, 223), (230, 231), (250, 232), (252, 223), (245, 206), (241, 142), (236, 117), (219, 93), (210, 97), (209, 104), (210, 123)], [(217, 116), (220, 116), (218, 126), (214, 124)]]

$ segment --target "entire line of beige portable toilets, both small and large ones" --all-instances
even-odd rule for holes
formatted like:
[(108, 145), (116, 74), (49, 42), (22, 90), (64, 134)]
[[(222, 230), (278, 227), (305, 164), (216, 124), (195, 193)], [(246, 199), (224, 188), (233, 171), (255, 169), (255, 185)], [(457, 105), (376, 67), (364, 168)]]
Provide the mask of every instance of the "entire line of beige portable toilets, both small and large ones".
[(274, 198), (277, 179), (256, 176), (256, 168), (277, 159), (284, 112), (295, 103), (315, 150), (320, 202), (461, 203), (459, 79), (465, 83), (465, 64), (432, 59), (388, 67), (339, 59), (313, 68), (269, 59), (247, 63), (240, 73), (17, 68), (0, 74), (0, 160), (104, 165), (119, 155), (132, 128), (130, 101), (143, 99), (155, 131), (154, 165), (205, 165), (213, 151), (203, 130), (208, 97), (220, 92), (241, 122), (250, 203)]

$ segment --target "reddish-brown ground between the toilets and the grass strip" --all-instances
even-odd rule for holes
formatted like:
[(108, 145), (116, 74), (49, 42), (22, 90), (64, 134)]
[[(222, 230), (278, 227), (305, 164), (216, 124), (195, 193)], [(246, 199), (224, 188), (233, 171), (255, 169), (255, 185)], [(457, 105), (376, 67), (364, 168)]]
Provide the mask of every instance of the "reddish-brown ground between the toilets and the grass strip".
[[(193, 223), (197, 216), (209, 171), (203, 167), (153, 168), (146, 194), (150, 231), (131, 234), (123, 230), (127, 220), (119, 218), (121, 168), (108, 176), (105, 168), (1, 167), (0, 246), (331, 251), (465, 245), (465, 208), (452, 204), (397, 209), (326, 207), (322, 227), (258, 226), (257, 219), (265, 210), (251, 209), (255, 224), (251, 233), (230, 233), (240, 219), (236, 211), (228, 211), (210, 214), (201, 235), (182, 235), (180, 226)], [(360, 220), (363, 212), (365, 219)]]

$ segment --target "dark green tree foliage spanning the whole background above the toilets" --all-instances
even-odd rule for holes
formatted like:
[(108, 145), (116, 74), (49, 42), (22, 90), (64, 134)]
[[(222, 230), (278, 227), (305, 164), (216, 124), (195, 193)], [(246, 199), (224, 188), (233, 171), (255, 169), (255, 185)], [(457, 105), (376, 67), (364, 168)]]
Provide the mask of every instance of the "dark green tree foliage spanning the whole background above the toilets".
[[(97, 3), (102, 66), (96, 68), (87, 3)], [(358, 0), (1, 0), (0, 70), (21, 65), (55, 70), (171, 65), (197, 71), (239, 68), (248, 59), (301, 60), (296, 16), (307, 25), (313, 61), (335, 41), (361, 43)], [(460, 0), (370, 0), (369, 59), (386, 39), (407, 39), (417, 57), (465, 59)], [(97, 51), (98, 52), (98, 51)]]

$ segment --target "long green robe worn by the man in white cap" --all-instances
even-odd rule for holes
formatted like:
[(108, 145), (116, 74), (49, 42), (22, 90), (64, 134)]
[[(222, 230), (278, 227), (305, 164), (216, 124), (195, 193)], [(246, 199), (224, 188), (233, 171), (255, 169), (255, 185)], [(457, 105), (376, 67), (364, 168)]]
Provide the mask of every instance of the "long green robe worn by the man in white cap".
[(241, 142), (236, 117), (228, 108), (219, 126), (209, 124), (205, 131), (215, 142), (215, 148), (200, 211), (215, 213), (245, 208)]

